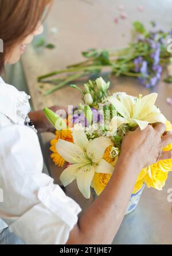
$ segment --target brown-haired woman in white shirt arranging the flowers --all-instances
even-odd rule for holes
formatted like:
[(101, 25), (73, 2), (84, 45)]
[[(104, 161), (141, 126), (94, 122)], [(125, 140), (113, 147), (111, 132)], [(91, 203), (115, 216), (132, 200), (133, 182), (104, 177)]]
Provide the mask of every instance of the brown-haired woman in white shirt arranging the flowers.
[[(0, 0), (0, 72), (18, 62), (26, 45), (42, 32), (48, 0)], [(54, 107), (56, 109), (56, 107)], [(130, 195), (143, 167), (172, 152), (165, 125), (148, 125), (125, 137), (111, 181), (87, 211), (65, 196), (53, 179), (42, 173), (43, 159), (30, 122), (29, 97), (0, 81), (0, 244), (109, 244), (123, 220)], [(51, 131), (42, 112), (29, 114), (39, 131)], [(132, 141), (132, 146), (131, 146)], [(130, 182), (128, 182), (130, 180)], [(109, 224), (111, 220), (111, 225)]]

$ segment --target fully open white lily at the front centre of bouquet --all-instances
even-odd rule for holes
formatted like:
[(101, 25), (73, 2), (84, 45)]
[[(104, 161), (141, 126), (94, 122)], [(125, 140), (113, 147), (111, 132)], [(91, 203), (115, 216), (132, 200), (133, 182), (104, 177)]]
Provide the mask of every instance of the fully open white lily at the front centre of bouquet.
[(58, 154), (72, 164), (63, 171), (60, 180), (67, 186), (76, 179), (80, 192), (85, 198), (90, 198), (90, 186), (95, 172), (112, 174), (114, 171), (114, 167), (103, 159), (105, 149), (112, 142), (107, 137), (98, 137), (89, 142), (79, 124), (73, 129), (73, 141), (70, 143), (60, 139), (56, 145)]

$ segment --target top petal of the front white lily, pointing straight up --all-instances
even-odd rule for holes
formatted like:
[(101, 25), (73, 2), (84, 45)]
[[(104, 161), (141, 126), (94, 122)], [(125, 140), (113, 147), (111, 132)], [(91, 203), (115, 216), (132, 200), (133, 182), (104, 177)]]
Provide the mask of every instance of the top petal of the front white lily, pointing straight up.
[(77, 144), (84, 151), (86, 151), (89, 140), (87, 139), (87, 136), (85, 135), (85, 132), (84, 132), (84, 128), (81, 124), (75, 125), (75, 127), (73, 128), (72, 135), (73, 135), (74, 143)]

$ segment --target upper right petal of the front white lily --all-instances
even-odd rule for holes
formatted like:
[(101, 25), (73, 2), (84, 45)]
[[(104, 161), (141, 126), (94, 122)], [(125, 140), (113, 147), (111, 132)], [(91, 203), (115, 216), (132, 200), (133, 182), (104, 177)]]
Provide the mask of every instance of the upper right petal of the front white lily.
[(99, 137), (88, 143), (87, 155), (95, 163), (99, 163), (101, 158), (103, 158), (104, 151), (107, 147), (111, 146), (113, 143), (107, 137)]

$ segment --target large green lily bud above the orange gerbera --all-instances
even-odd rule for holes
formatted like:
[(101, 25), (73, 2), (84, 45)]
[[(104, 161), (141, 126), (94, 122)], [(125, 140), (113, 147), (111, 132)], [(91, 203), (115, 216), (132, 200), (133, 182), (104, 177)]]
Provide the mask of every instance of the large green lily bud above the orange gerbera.
[(67, 129), (67, 124), (65, 123), (65, 121), (52, 110), (44, 108), (44, 114), (49, 122), (53, 125), (53, 127), (56, 128), (58, 131)]

